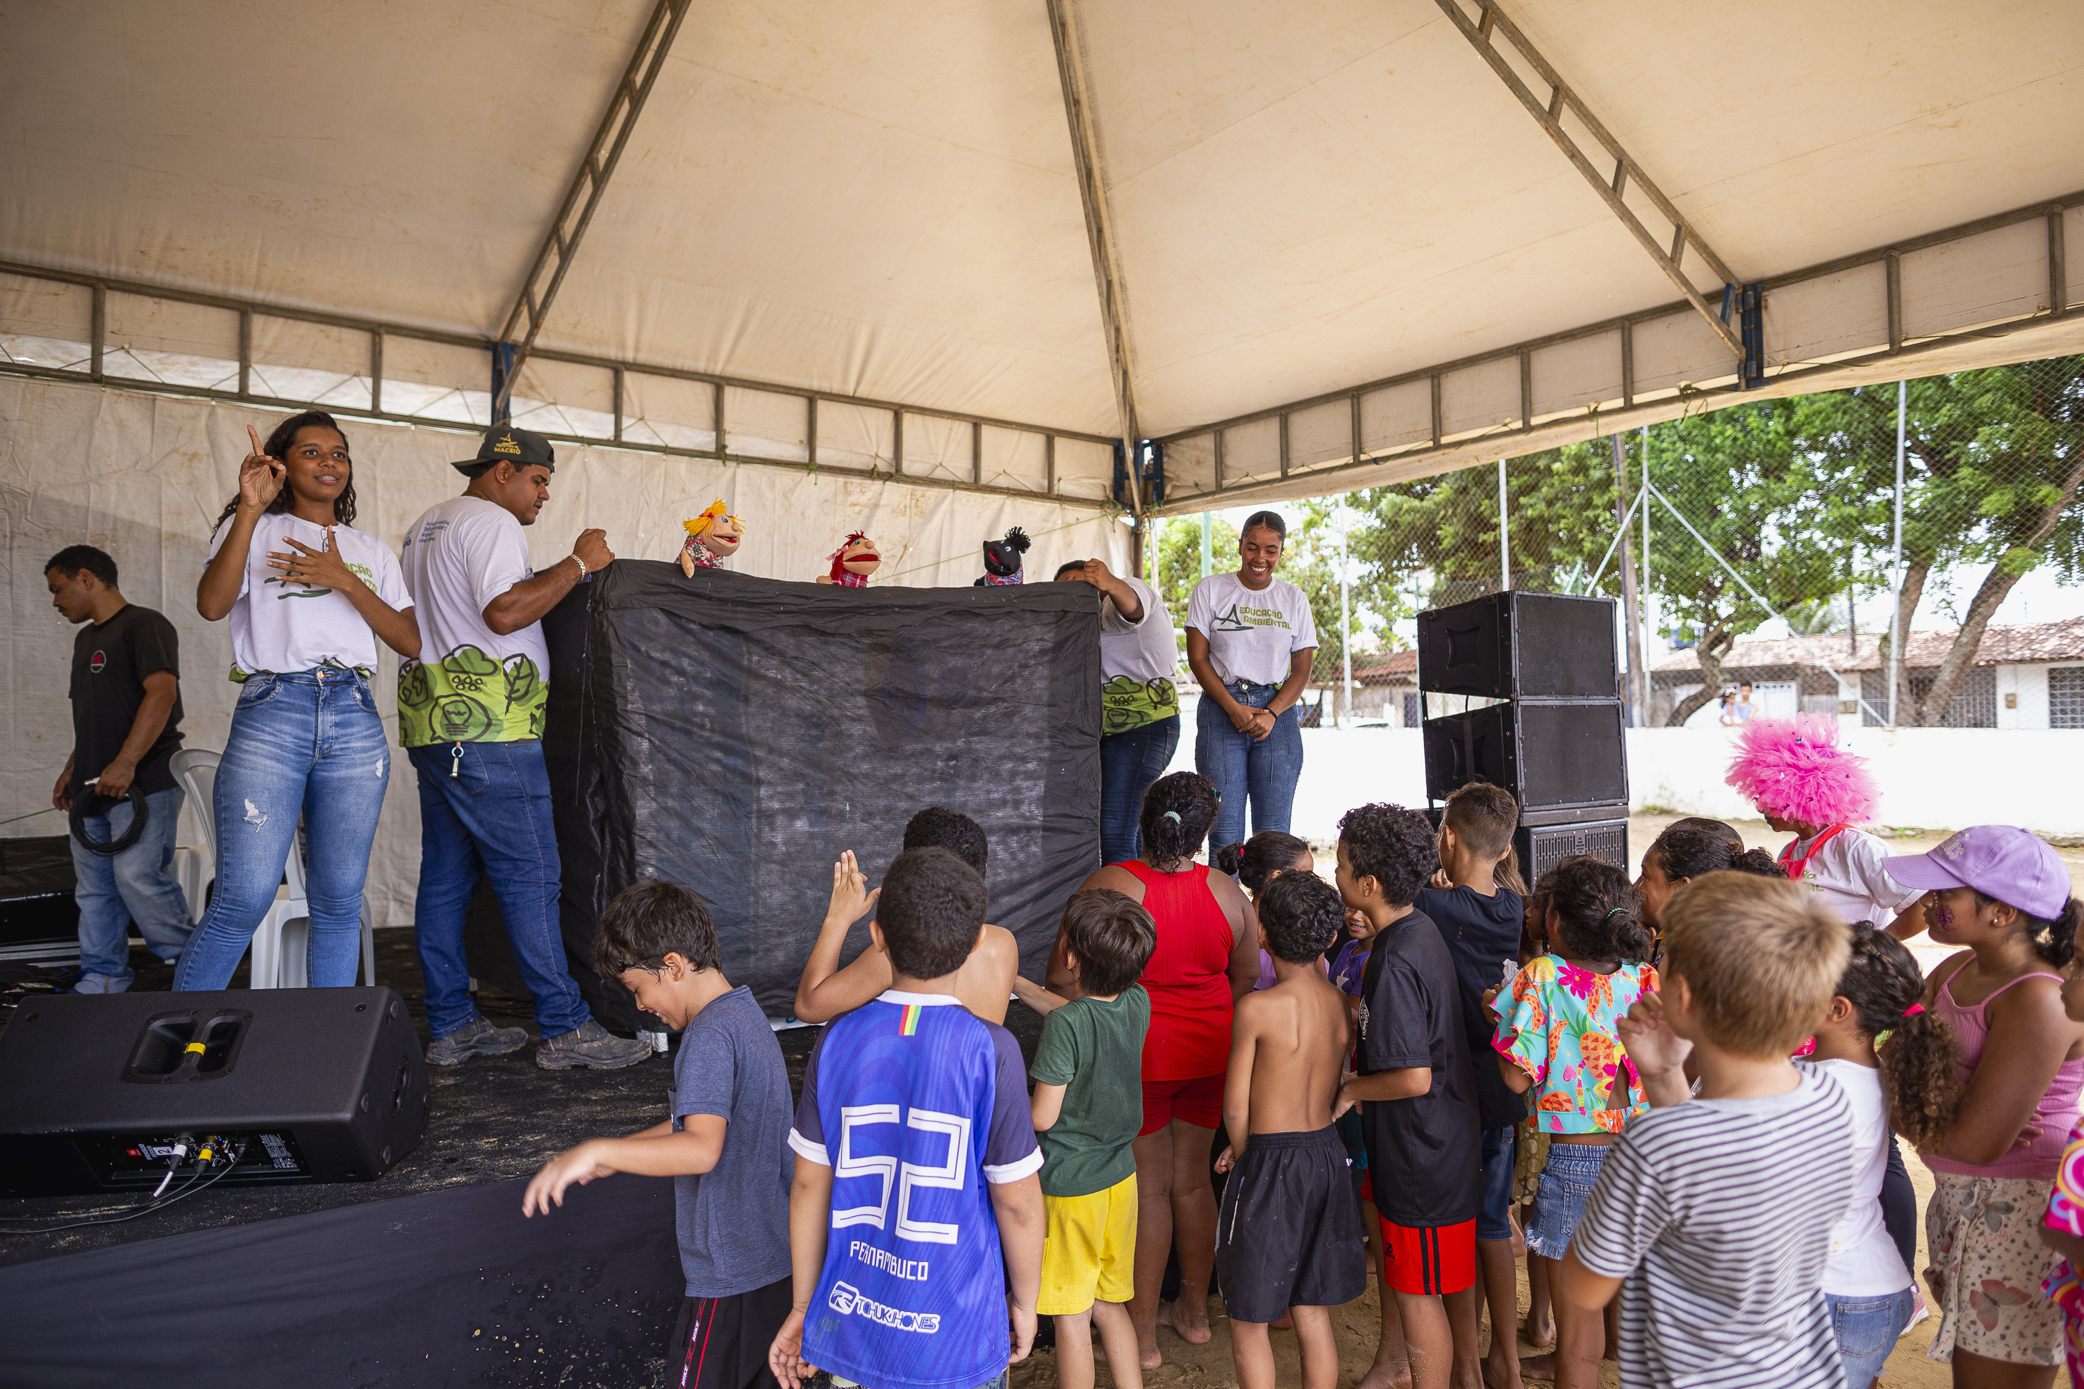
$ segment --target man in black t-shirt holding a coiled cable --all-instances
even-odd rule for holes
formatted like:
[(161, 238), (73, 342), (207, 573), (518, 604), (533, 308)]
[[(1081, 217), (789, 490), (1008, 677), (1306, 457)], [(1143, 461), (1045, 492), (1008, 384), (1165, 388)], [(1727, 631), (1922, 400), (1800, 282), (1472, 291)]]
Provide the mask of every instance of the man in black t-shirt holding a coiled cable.
[(181, 746), (179, 641), (165, 616), (123, 600), (117, 562), (94, 546), (50, 556), (44, 581), (50, 606), (67, 623), (85, 623), (73, 641), (73, 756), (50, 804), (71, 810), (75, 798), (92, 795), (81, 827), (96, 843), (115, 843), (138, 814), (131, 787), (144, 793), (144, 831), (121, 854), (96, 854), (73, 839), (77, 991), (121, 993), (131, 985), (131, 923), (167, 962), (181, 958), (194, 931), (173, 877), (181, 787), (169, 762)]

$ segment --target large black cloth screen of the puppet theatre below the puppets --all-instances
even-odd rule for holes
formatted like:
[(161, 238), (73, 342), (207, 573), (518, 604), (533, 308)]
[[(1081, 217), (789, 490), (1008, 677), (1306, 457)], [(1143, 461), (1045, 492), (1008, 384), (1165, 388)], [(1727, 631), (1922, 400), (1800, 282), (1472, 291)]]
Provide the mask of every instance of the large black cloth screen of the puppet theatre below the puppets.
[[(731, 981), (786, 1016), (832, 862), (854, 850), (879, 881), (904, 820), (936, 804), (984, 827), (990, 918), (1040, 975), (1098, 866), (1090, 585), (846, 589), (617, 560), (544, 635), (565, 945), (606, 1020), (644, 1025), (588, 960), (600, 908), (629, 883), (702, 893)], [(486, 935), (473, 968), (519, 989)], [(844, 958), (867, 941), (863, 920)]]

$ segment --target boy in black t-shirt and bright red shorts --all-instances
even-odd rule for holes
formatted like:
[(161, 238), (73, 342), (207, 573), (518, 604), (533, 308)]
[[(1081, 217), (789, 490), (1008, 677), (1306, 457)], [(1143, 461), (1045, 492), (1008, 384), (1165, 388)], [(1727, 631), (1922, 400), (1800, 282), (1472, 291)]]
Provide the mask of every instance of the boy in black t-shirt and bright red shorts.
[[(1482, 1156), (1475, 1072), (1455, 958), (1411, 906), (1440, 866), (1425, 816), (1361, 806), (1338, 823), (1338, 891), (1375, 943), (1361, 991), (1359, 1070), (1340, 1087), (1361, 1133), (1382, 1216), (1382, 1285), (1394, 1295), (1413, 1389), (1478, 1379), (1475, 1216)], [(1392, 1179), (1394, 1175), (1394, 1179)]]

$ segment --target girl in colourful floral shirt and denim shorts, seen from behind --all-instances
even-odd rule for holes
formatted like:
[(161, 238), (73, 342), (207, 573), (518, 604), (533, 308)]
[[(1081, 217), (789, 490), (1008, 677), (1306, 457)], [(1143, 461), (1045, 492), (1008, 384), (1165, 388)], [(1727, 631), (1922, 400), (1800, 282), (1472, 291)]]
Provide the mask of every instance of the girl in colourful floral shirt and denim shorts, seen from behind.
[[(1511, 997), (1498, 1000), (1492, 1047), (1505, 1083), (1534, 1097), (1534, 1125), (1550, 1137), (1528, 1254), (1548, 1264), (1553, 1285), (1607, 1145), (1648, 1110), (1615, 1025), (1657, 989), (1657, 970), (1644, 964), (1651, 933), (1628, 875), (1613, 864), (1565, 858), (1536, 893), (1548, 898), (1548, 954), (1523, 966)], [(1601, 1316), (1557, 1302), (1555, 1318), (1557, 1389), (1596, 1387), (1607, 1343)], [(1528, 1360), (1521, 1372), (1548, 1379), (1544, 1368)]]

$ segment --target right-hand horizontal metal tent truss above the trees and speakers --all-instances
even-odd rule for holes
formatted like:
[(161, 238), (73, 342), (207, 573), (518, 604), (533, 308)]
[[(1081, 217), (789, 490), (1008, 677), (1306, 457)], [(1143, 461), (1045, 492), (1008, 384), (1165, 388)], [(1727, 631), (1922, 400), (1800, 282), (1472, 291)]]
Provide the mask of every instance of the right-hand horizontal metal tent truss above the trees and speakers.
[[(1440, 2), (1442, 4), (1453, 4), (1453, 0), (1440, 0)], [(1838, 256), (1834, 260), (1826, 260), (1821, 264), (1811, 264), (1811, 267), (1798, 269), (1798, 271), (1788, 271), (1784, 275), (1767, 275), (1767, 277), (1755, 281), (1761, 292), (1769, 294), (1769, 292), (1786, 287), (1786, 285), (1798, 285), (1798, 283), (1807, 283), (1807, 281), (1815, 281), (1815, 279), (1826, 279), (1830, 275), (1842, 275), (1846, 271), (1869, 267), (1869, 264), (1882, 264), (1884, 271), (1886, 271), (1888, 344), (1884, 348), (1878, 348), (1878, 350), (1871, 350), (1871, 352), (1853, 352), (1853, 354), (1844, 354), (1844, 356), (1834, 356), (1832, 360), (1813, 362), (1813, 364), (1807, 364), (1807, 367), (1794, 367), (1794, 364), (1790, 364), (1790, 367), (1784, 367), (1784, 369), (1771, 373), (1771, 377), (1769, 377), (1771, 383), (1778, 385), (1778, 383), (1805, 381), (1805, 379), (1811, 379), (1811, 377), (1836, 375), (1836, 373), (1842, 373), (1846, 369), (1871, 367), (1871, 364), (1880, 364), (1880, 362), (1888, 362), (1888, 360), (1907, 360), (1907, 358), (1913, 358), (1913, 356), (1917, 356), (1921, 352), (1932, 352), (1932, 350), (1938, 350), (1938, 348), (1946, 348), (1946, 346), (1955, 346), (1955, 344), (1967, 344), (1967, 342), (1978, 342), (1978, 339), (2003, 337), (2003, 335), (2015, 333), (2019, 329), (2038, 327), (2040, 323), (2046, 323), (2051, 319), (2067, 317), (2067, 312), (2069, 312), (2069, 302), (2067, 302), (2069, 287), (2067, 287), (2067, 258), (2065, 258), (2065, 246), (2063, 246), (2063, 212), (2069, 210), (2069, 208), (2076, 208), (2076, 206), (2084, 206), (2084, 190), (2074, 192), (2074, 194), (2065, 194), (2065, 196), (2049, 200), (2049, 202), (2034, 202), (2034, 204), (2028, 204), (2028, 206), (2021, 206), (2021, 208), (2013, 208), (2009, 212), (1996, 212), (1992, 217), (1982, 217), (1978, 221), (1961, 223), (1961, 225), (1955, 225), (1955, 227), (1944, 227), (1940, 231), (1928, 231), (1924, 235), (1909, 237), (1909, 239), (1903, 239), (1903, 242), (1894, 242), (1890, 246), (1878, 246), (1874, 250), (1855, 252), (1851, 256)], [(1976, 327), (1967, 327), (1967, 329), (1959, 329), (1959, 331), (1951, 331), (1951, 333), (1934, 333), (1930, 337), (1919, 337), (1915, 342), (1905, 335), (1905, 329), (1903, 329), (1903, 256), (1907, 256), (1911, 252), (1928, 250), (1932, 246), (1946, 246), (1951, 242), (1963, 242), (1967, 237), (1982, 235), (1986, 231), (1999, 231), (2003, 227), (2015, 227), (2019, 223), (2030, 223), (2030, 221), (2036, 221), (2036, 219), (2044, 221), (2044, 225), (2046, 225), (2049, 285), (2046, 285), (2046, 304), (2044, 306), (2040, 306), (2040, 308), (2036, 308), (2036, 310), (2032, 310), (2028, 314), (2021, 314), (2017, 319), (2009, 319), (2009, 321), (2001, 321), (2001, 323), (1984, 323), (1984, 325), (1976, 325)], [(1490, 462), (1492, 458), (1503, 458), (1503, 456), (1509, 456), (1509, 454), (1515, 454), (1515, 452), (1525, 452), (1523, 448), (1517, 448), (1513, 441), (1519, 439), (1519, 437), (1523, 437), (1523, 435), (1532, 435), (1536, 429), (1553, 429), (1555, 425), (1567, 425), (1571, 419), (1580, 419), (1586, 425), (1590, 425), (1592, 427), (1590, 433), (1613, 433), (1615, 429), (1623, 429), (1623, 427), (1630, 427), (1634, 423), (1653, 423), (1657, 419), (1669, 419), (1669, 414), (1671, 414), (1671, 400), (1676, 396), (1684, 396), (1686, 387), (1680, 387), (1678, 392), (1663, 389), (1663, 392), (1657, 394), (1655, 400), (1638, 400), (1636, 398), (1634, 331), (1636, 331), (1636, 327), (1640, 327), (1644, 323), (1653, 323), (1653, 321), (1659, 321), (1659, 319), (1669, 319), (1673, 314), (1682, 314), (1682, 312), (1688, 312), (1688, 310), (1692, 310), (1692, 304), (1684, 302), (1684, 300), (1682, 302), (1671, 302), (1671, 304), (1659, 304), (1655, 308), (1642, 308), (1642, 310), (1636, 310), (1636, 312), (1630, 312), (1630, 314), (1619, 314), (1615, 319), (1603, 319), (1598, 323), (1588, 323), (1584, 327), (1563, 329), (1563, 331), (1557, 331), (1557, 333), (1544, 333), (1542, 337), (1530, 337), (1525, 342), (1517, 342), (1517, 344), (1511, 344), (1511, 346), (1505, 346), (1505, 348), (1494, 348), (1490, 352), (1478, 352), (1473, 356), (1455, 358), (1450, 362), (1438, 362), (1434, 367), (1419, 367), (1415, 371), (1405, 371), (1405, 373), (1398, 373), (1394, 377), (1380, 377), (1375, 381), (1363, 381), (1359, 385), (1348, 385), (1348, 387), (1342, 387), (1342, 389), (1336, 389), (1336, 392), (1323, 392), (1319, 396), (1309, 396), (1305, 400), (1292, 400), (1288, 404), (1267, 406), (1263, 410), (1252, 410), (1248, 414), (1234, 414), (1230, 419), (1213, 421), (1213, 423), (1207, 423), (1207, 425), (1194, 425), (1194, 427), (1188, 427), (1188, 429), (1177, 429), (1173, 433), (1167, 433), (1167, 435), (1159, 437), (1157, 444), (1161, 444), (1161, 446), (1173, 446), (1173, 444), (1180, 444), (1182, 439), (1196, 439), (1196, 437), (1202, 437), (1202, 435), (1213, 435), (1213, 450), (1211, 452), (1213, 452), (1213, 460), (1215, 460), (1215, 477), (1213, 477), (1215, 485), (1209, 487), (1209, 489), (1205, 489), (1205, 491), (1180, 491), (1177, 487), (1169, 487), (1171, 496), (1167, 498), (1165, 506), (1159, 506), (1159, 508), (1152, 508), (1152, 510), (1155, 510), (1155, 514), (1163, 514), (1163, 516), (1190, 514), (1190, 512), (1200, 512), (1200, 510), (1209, 510), (1209, 508), (1242, 506), (1242, 504), (1248, 504), (1250, 500), (1255, 500), (1257, 496), (1273, 491), (1273, 489), (1284, 489), (1286, 494), (1292, 494), (1294, 475), (1290, 473), (1290, 458), (1288, 458), (1288, 421), (1290, 421), (1292, 414), (1298, 414), (1302, 410), (1313, 410), (1313, 408), (1319, 408), (1319, 406), (1328, 406), (1328, 404), (1348, 404), (1350, 406), (1350, 421), (1353, 421), (1353, 452), (1350, 452), (1350, 456), (1346, 460), (1340, 460), (1340, 462), (1311, 464), (1311, 469), (1307, 473), (1311, 479), (1323, 479), (1323, 491), (1328, 491), (1328, 494), (1330, 491), (1353, 491), (1357, 487), (1373, 485), (1371, 481), (1344, 481), (1344, 477), (1350, 475), (1350, 473), (1365, 471), (1365, 469), (1380, 469), (1380, 466), (1384, 466), (1388, 462), (1403, 464), (1403, 462), (1423, 460), (1428, 456), (1459, 452), (1459, 450), (1467, 450), (1471, 444), (1478, 444), (1478, 441), (1496, 439), (1498, 450), (1496, 452), (1488, 452), (1486, 450), (1484, 456), (1469, 458), (1467, 460), (1469, 466), (1475, 466), (1480, 462)], [(1601, 335), (1607, 335), (1607, 333), (1613, 333), (1617, 337), (1617, 344), (1619, 344), (1619, 383), (1621, 383), (1621, 402), (1619, 402), (1619, 406), (1615, 408), (1615, 406), (1609, 404), (1609, 406), (1603, 408), (1601, 404), (1594, 402), (1594, 404), (1584, 406), (1582, 410), (1548, 414), (1548, 416), (1544, 416), (1540, 421), (1540, 425), (1536, 425), (1536, 421), (1534, 421), (1534, 373), (1532, 373), (1532, 356), (1534, 356), (1534, 352), (1538, 352), (1542, 348), (1553, 348), (1557, 344), (1580, 342), (1580, 339), (1586, 339), (1586, 337), (1601, 337)], [(1442, 416), (1442, 400), (1440, 400), (1440, 396), (1442, 396), (1442, 379), (1448, 377), (1448, 375), (1453, 375), (1453, 373), (1457, 373), (1457, 371), (1467, 371), (1471, 367), (1484, 367), (1484, 364), (1490, 364), (1490, 362), (1503, 362), (1503, 360), (1515, 360), (1515, 358), (1519, 362), (1519, 423), (1517, 425), (1494, 427), (1494, 429), (1488, 429), (1488, 431), (1463, 433), (1463, 435), (1457, 435), (1453, 439), (1446, 437), (1446, 433), (1444, 433), (1444, 416)], [(1732, 371), (1732, 375), (1734, 375), (1734, 371)], [(1911, 373), (1911, 375), (1915, 375), (1915, 373)], [(1375, 392), (1384, 392), (1384, 389), (1390, 389), (1390, 387), (1396, 387), (1396, 385), (1411, 385), (1415, 381), (1425, 381), (1432, 387), (1432, 437), (1430, 439), (1421, 439), (1417, 444), (1400, 444), (1400, 446), (1390, 446), (1390, 448), (1367, 450), (1365, 444), (1363, 444), (1363, 435), (1361, 435), (1361, 400), (1365, 396), (1375, 394)], [(1730, 400), (1728, 400), (1728, 404), (1736, 404), (1736, 400), (1738, 398), (1732, 394)], [(1269, 421), (1269, 419), (1271, 421), (1280, 421), (1280, 475), (1277, 477), (1265, 477), (1265, 475), (1261, 475), (1261, 477), (1250, 477), (1250, 479), (1225, 481), (1225, 477), (1223, 477), (1223, 464), (1225, 464), (1225, 460), (1223, 460), (1223, 433), (1230, 431), (1230, 429), (1240, 429), (1244, 425), (1257, 425), (1257, 423)], [(1411, 475), (1413, 477), (1425, 477), (1428, 473), (1423, 469), (1417, 469)]]

